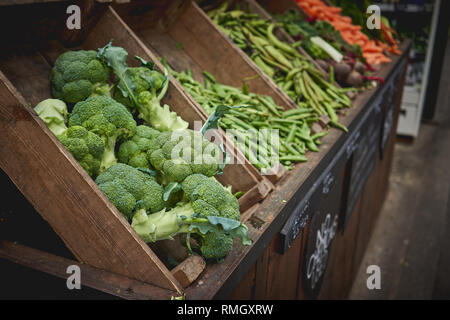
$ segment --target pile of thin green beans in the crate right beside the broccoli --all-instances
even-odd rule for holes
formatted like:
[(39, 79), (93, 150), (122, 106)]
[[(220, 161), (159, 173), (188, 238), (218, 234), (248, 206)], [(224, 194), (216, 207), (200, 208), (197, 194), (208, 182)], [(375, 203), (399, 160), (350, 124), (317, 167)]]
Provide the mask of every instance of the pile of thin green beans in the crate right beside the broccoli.
[[(305, 156), (308, 150), (319, 151), (320, 138), (328, 131), (311, 134), (310, 125), (318, 120), (317, 114), (311, 107), (301, 103), (299, 108), (284, 110), (277, 106), (269, 96), (248, 92), (245, 88), (235, 88), (220, 84), (208, 72), (204, 72), (205, 84), (194, 80), (190, 69), (175, 72), (167, 67), (172, 75), (182, 84), (185, 90), (210, 115), (218, 105), (243, 107), (231, 109), (219, 121), (219, 126), (240, 133), (258, 131), (261, 129), (278, 130), (279, 144), (277, 152), (279, 161), (287, 169), (297, 162), (307, 161)], [(270, 139), (268, 139), (270, 140)], [(245, 145), (243, 145), (245, 141)], [(236, 139), (238, 147), (244, 152), (246, 158), (259, 169), (269, 169), (273, 164), (264, 156), (270, 155), (273, 149), (270, 145), (255, 145), (248, 139)], [(261, 150), (267, 148), (267, 150)]]

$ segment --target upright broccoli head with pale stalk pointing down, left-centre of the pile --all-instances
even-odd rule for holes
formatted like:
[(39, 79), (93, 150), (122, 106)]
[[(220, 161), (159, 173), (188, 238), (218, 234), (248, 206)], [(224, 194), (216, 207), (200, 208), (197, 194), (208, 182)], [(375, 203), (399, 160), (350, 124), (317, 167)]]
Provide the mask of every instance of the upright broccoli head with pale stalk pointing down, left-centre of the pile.
[(136, 132), (136, 121), (127, 108), (108, 96), (95, 96), (78, 102), (69, 117), (69, 127), (83, 126), (103, 139), (105, 152), (100, 173), (117, 163), (116, 141), (128, 139)]

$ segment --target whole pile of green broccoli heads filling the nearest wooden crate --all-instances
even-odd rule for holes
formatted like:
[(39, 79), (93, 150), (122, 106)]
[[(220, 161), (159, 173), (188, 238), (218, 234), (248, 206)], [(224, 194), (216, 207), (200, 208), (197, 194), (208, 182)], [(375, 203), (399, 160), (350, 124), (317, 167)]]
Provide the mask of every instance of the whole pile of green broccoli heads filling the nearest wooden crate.
[[(36, 113), (145, 241), (186, 234), (190, 252), (218, 261), (235, 238), (251, 244), (237, 197), (214, 178), (226, 153), (203, 136), (221, 114), (214, 112), (201, 131), (187, 129), (160, 105), (167, 70), (163, 75), (139, 57), (141, 66), (130, 68), (127, 58), (111, 42), (98, 52), (63, 53), (52, 70), (53, 95), (74, 106), (69, 113), (63, 100), (46, 99)], [(134, 113), (146, 124), (137, 125)]]

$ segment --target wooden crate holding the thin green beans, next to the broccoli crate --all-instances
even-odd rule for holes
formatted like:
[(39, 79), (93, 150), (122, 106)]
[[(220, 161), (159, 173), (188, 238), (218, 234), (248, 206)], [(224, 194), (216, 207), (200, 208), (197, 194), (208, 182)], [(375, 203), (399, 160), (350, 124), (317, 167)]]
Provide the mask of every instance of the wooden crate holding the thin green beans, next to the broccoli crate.
[[(235, 87), (242, 87), (245, 80), (252, 92), (268, 95), (285, 108), (296, 107), (250, 58), (222, 34), (195, 2), (174, 1), (160, 16), (155, 14), (153, 3), (143, 1), (116, 5), (115, 9), (145, 45), (164, 57), (176, 71), (189, 67), (194, 78), (203, 81), (202, 73), (206, 70), (219, 82)], [(190, 99), (198, 105), (192, 97)], [(207, 117), (206, 112), (200, 106), (198, 108)], [(236, 157), (245, 159), (237, 148), (236, 153)], [(260, 176), (259, 170), (247, 159), (245, 165)], [(276, 182), (284, 173), (282, 169), (266, 177)]]

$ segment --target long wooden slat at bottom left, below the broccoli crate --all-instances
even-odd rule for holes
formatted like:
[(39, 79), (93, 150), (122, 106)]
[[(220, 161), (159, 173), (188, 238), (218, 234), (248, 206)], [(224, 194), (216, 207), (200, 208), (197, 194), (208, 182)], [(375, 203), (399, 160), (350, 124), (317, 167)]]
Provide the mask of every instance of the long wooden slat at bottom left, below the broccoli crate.
[(0, 258), (62, 279), (69, 277), (67, 267), (76, 265), (80, 268), (82, 287), (88, 286), (124, 299), (169, 300), (172, 296), (179, 295), (176, 291), (152, 286), (10, 241), (0, 240)]

